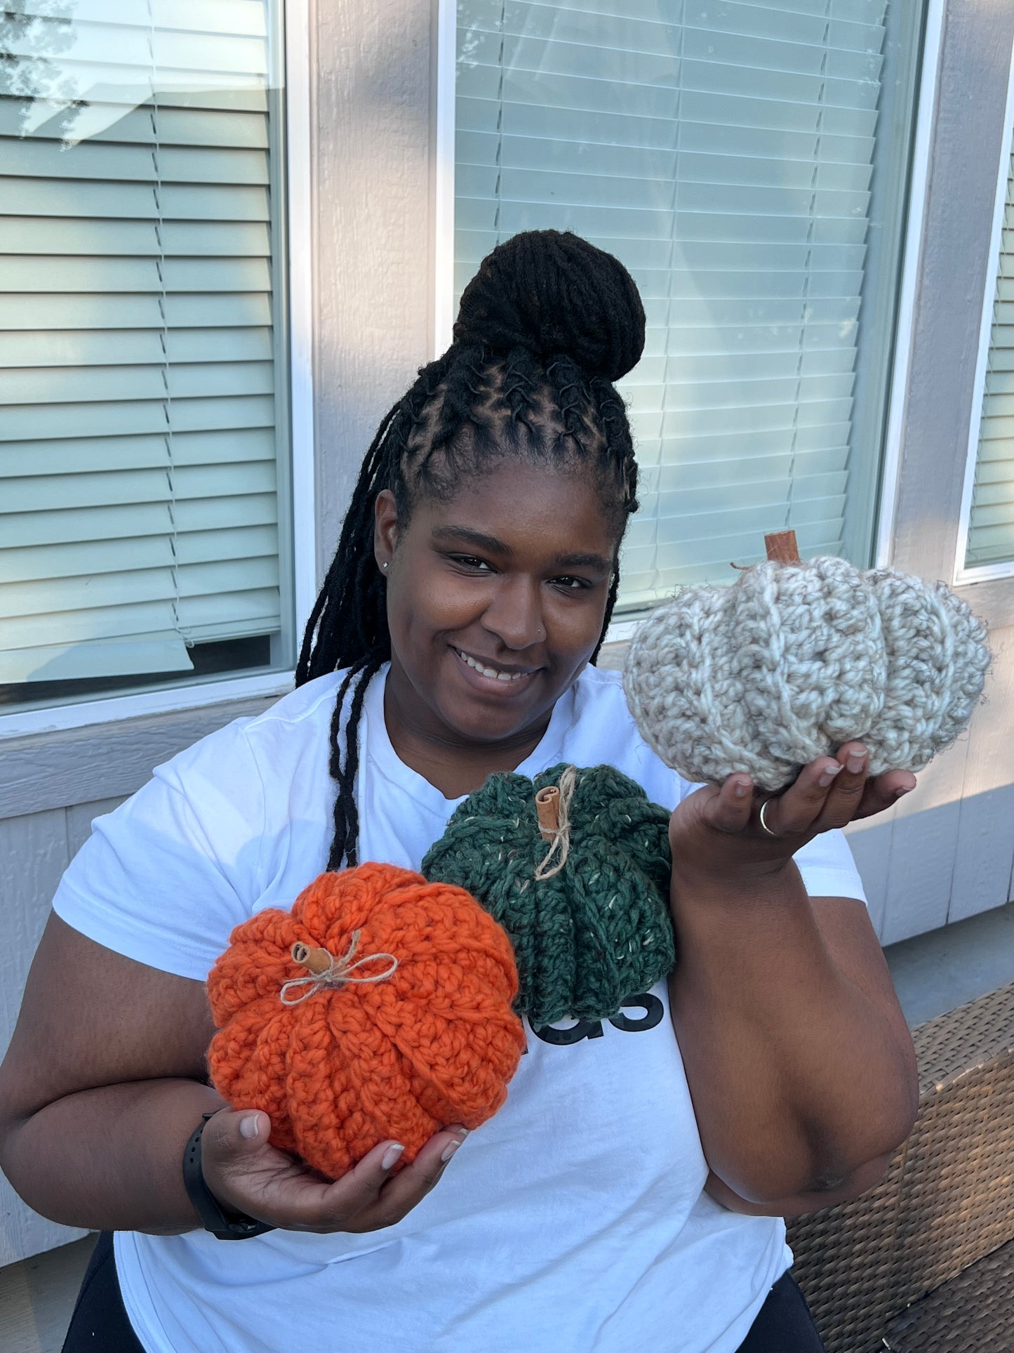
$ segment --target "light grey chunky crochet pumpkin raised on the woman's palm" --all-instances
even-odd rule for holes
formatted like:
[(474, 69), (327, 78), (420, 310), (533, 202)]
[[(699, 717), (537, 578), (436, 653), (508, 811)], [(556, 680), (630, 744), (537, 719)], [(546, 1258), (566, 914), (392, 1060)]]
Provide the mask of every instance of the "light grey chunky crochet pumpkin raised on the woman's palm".
[(921, 770), (968, 725), (988, 664), (984, 625), (944, 583), (821, 557), (679, 591), (637, 632), (623, 689), (685, 779), (779, 790), (852, 739), (875, 775)]

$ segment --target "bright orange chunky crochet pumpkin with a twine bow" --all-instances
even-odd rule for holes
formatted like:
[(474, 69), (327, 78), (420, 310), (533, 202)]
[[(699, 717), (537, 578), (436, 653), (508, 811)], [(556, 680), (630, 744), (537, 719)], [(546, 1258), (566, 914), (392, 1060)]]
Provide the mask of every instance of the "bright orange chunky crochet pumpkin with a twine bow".
[(320, 874), (262, 911), (208, 977), (211, 1078), (273, 1146), (338, 1178), (379, 1142), (411, 1161), (479, 1127), (525, 1049), (510, 940), (464, 889), (393, 865)]

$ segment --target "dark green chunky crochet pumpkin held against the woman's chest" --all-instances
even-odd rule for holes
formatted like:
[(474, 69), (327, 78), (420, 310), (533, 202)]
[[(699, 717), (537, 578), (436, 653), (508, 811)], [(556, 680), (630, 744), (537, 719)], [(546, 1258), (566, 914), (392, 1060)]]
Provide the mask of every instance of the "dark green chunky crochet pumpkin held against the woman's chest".
[(466, 888), (507, 931), (518, 1008), (534, 1024), (608, 1019), (676, 957), (669, 813), (611, 766), (577, 771), (565, 863), (537, 879), (549, 846), (535, 792), (558, 785), (565, 770), (554, 766), (534, 782), (491, 775), (422, 862), (427, 878)]

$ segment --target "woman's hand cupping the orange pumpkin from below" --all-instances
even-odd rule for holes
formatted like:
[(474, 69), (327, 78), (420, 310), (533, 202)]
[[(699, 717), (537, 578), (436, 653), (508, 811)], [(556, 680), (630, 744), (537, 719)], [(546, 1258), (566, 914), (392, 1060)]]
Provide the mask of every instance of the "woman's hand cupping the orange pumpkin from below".
[[(201, 1134), (204, 1183), (226, 1208), (287, 1231), (377, 1231), (426, 1197), (468, 1130), (448, 1127), (397, 1170), (397, 1142), (380, 1142), (339, 1180), (324, 1178), (268, 1141), (270, 1119), (224, 1108)], [(395, 1173), (395, 1170), (397, 1170)]]

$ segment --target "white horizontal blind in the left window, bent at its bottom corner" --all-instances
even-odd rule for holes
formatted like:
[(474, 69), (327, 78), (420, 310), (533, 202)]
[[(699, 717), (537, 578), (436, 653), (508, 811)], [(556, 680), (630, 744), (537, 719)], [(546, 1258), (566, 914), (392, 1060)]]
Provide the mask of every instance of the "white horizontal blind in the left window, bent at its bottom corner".
[(269, 24), (5, 19), (0, 682), (185, 672), (280, 626)]

